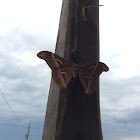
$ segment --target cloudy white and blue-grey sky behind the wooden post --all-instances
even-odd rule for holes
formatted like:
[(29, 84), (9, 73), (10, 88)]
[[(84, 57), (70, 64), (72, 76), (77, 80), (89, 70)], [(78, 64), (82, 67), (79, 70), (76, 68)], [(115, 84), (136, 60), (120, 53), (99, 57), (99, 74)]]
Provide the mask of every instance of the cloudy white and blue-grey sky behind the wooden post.
[[(140, 140), (139, 0), (100, 0), (104, 140)], [(51, 71), (36, 54), (54, 52), (62, 0), (0, 0), (0, 139), (41, 140)], [(53, 10), (53, 12), (52, 12)]]

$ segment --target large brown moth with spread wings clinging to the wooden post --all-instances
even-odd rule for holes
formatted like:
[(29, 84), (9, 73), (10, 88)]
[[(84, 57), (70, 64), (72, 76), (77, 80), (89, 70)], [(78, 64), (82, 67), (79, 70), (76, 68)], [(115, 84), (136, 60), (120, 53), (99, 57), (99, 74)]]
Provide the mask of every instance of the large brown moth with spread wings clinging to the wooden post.
[(52, 77), (60, 88), (67, 88), (71, 78), (79, 75), (85, 93), (88, 95), (94, 93), (96, 79), (99, 75), (103, 71), (109, 70), (107, 65), (102, 62), (91, 62), (83, 65), (74, 64), (49, 51), (41, 51), (37, 56), (47, 62), (52, 69)]

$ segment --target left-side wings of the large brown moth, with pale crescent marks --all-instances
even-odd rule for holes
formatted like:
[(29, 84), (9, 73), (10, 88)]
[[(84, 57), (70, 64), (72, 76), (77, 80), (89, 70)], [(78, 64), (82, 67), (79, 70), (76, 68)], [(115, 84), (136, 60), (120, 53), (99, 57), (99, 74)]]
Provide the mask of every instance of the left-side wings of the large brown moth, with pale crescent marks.
[(44, 59), (52, 69), (52, 77), (56, 84), (60, 88), (66, 88), (72, 78), (75, 64), (72, 64), (59, 55), (49, 51), (39, 52), (37, 56)]

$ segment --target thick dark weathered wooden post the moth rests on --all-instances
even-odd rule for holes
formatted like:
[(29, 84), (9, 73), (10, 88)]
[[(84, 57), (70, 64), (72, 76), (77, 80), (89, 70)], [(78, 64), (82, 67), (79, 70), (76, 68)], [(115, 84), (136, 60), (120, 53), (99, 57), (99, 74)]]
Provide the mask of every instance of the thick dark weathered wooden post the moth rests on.
[[(86, 2), (86, 3), (85, 3)], [(63, 0), (56, 53), (74, 63), (99, 61), (98, 0)], [(102, 140), (99, 81), (93, 95), (85, 94), (79, 79), (66, 89), (51, 81), (42, 140)]]

